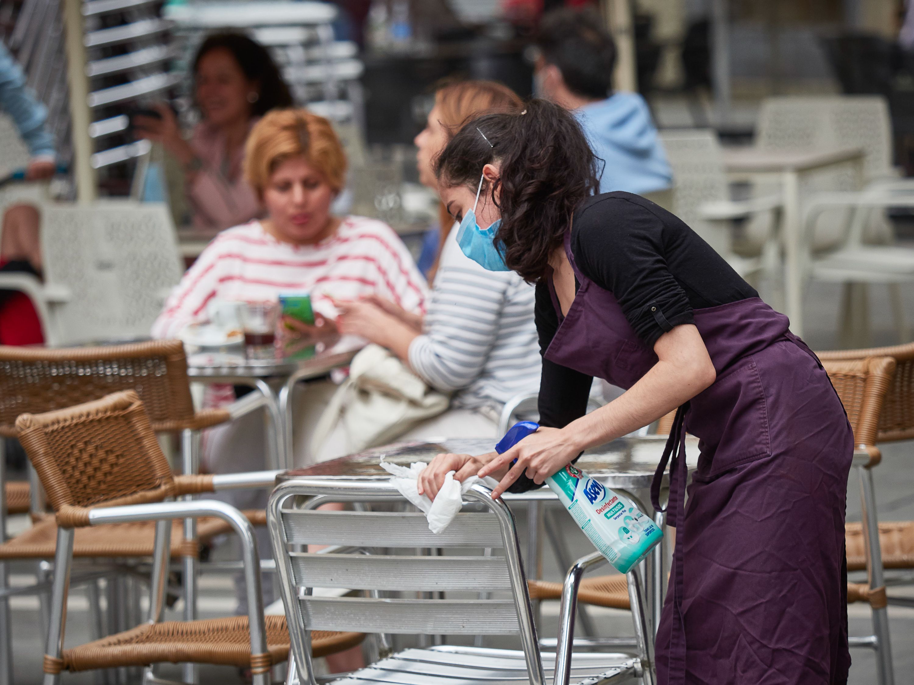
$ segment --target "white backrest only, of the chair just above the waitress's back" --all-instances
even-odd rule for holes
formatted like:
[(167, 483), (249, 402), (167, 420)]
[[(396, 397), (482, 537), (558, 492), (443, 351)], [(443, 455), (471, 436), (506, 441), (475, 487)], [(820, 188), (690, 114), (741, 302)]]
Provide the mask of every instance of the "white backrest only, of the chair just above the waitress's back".
[(700, 212), (707, 202), (729, 199), (717, 134), (707, 129), (667, 130), (660, 132), (660, 138), (673, 169), (671, 211), (727, 258), (733, 252), (730, 227), (707, 221)]

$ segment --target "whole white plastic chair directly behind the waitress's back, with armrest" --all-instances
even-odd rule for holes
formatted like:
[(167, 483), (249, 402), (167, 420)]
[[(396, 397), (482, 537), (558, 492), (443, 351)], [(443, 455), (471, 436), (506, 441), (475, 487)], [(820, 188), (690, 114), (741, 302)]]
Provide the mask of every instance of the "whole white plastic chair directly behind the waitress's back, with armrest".
[[(663, 131), (660, 137), (673, 168), (673, 213), (717, 250), (742, 278), (757, 277), (778, 258), (771, 238), (780, 196), (731, 201), (720, 143), (713, 131)], [(735, 248), (734, 222), (739, 219), (757, 224), (764, 236), (749, 254), (738, 254)]]

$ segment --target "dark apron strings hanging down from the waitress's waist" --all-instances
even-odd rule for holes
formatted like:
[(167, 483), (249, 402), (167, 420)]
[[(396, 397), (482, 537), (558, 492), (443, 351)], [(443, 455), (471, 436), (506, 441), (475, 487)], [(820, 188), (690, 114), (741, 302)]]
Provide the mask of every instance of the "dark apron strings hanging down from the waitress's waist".
[[(683, 554), (685, 549), (685, 480), (688, 469), (685, 465), (685, 412), (686, 402), (676, 410), (670, 437), (666, 440), (664, 455), (660, 458), (654, 480), (651, 481), (651, 504), (654, 511), (667, 511), (666, 524), (676, 529), (676, 546), (673, 553), (673, 621), (670, 631), (669, 685), (685, 685), (685, 618), (683, 617)], [(670, 466), (670, 495), (666, 507), (660, 507), (660, 487), (664, 481), (666, 465)]]

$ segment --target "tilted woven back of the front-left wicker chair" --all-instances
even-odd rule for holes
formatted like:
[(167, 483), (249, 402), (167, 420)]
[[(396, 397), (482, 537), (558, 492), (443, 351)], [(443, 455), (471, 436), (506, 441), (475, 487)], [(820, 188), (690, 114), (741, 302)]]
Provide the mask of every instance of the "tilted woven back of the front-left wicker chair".
[(102, 503), (161, 501), (175, 490), (133, 390), (46, 414), (23, 414), (16, 430), (61, 525), (85, 525), (88, 508)]

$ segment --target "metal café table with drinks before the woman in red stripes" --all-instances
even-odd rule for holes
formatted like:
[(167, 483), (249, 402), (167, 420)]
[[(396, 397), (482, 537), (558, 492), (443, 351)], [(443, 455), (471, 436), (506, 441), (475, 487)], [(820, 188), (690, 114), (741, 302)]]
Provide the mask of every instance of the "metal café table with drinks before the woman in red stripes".
[[(347, 366), (365, 342), (352, 336), (335, 336), (321, 342), (287, 346), (273, 359), (247, 359), (240, 345), (218, 353), (196, 353), (187, 358), (187, 375), (197, 383), (247, 385), (267, 399), (275, 430), (280, 469), (292, 468), (292, 391), (300, 381), (313, 380)], [(270, 381), (274, 384), (271, 385)], [(276, 382), (282, 383), (279, 393)]]

